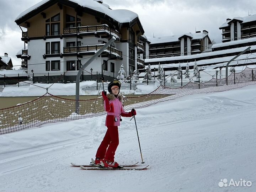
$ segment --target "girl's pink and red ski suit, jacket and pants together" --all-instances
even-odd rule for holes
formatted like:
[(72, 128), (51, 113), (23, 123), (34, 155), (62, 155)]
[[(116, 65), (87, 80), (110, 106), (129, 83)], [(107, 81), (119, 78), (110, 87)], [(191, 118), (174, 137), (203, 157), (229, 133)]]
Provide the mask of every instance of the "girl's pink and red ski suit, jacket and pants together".
[(107, 132), (97, 150), (96, 158), (114, 162), (114, 154), (119, 144), (117, 126), (120, 126), (120, 116), (132, 117), (133, 114), (123, 110), (123, 97), (121, 95), (115, 97), (113, 94), (107, 94), (107, 97), (109, 105), (104, 101), (104, 108), (107, 111), (105, 122)]

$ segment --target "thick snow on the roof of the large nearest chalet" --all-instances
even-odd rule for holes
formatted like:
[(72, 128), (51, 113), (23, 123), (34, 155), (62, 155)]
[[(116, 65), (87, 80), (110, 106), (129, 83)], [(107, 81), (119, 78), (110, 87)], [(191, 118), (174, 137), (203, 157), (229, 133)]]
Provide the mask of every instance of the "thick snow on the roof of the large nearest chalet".
[[(16, 17), (15, 21), (18, 20), (19, 18), (25, 16), (29, 12), (38, 9), (38, 7), (42, 6), (43, 4), (45, 4), (48, 1), (50, 1), (50, 0), (42, 0), (42, 1), (38, 2), (37, 4), (31, 6), (27, 10), (23, 11), (20, 15), (18, 15)], [(101, 12), (103, 14), (106, 14), (109, 17), (113, 18), (114, 20), (116, 20), (120, 23), (131, 22), (135, 18), (139, 17), (138, 14), (136, 14), (132, 11), (126, 10), (126, 9), (111, 10), (111, 9), (107, 8), (105, 5), (102, 5), (101, 3), (94, 1), (94, 0), (69, 0), (69, 1), (77, 3), (77, 4), (81, 5), (82, 7), (87, 7), (87, 8), (93, 9), (95, 11)]]

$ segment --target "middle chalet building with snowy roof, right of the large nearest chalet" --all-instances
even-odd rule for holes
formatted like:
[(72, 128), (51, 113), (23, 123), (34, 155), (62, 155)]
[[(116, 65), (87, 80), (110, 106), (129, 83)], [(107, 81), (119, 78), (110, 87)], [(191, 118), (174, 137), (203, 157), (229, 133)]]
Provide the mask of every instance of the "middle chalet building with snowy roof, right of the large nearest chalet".
[(197, 31), (177, 36), (149, 38), (148, 58), (175, 57), (202, 53), (212, 44), (208, 31)]

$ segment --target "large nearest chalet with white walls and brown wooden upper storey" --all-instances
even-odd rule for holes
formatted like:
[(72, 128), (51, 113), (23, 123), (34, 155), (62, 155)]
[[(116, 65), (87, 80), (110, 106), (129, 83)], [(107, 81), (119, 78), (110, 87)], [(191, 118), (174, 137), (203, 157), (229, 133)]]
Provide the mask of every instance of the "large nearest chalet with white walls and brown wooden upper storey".
[(144, 64), (137, 59), (145, 47), (136, 13), (112, 10), (102, 0), (80, 2), (43, 0), (16, 18), (21, 30), (27, 29), (22, 30), (24, 48), (17, 57), (34, 78), (65, 73), (67, 81), (74, 81), (80, 66), (113, 36), (116, 41), (86, 67), (83, 80), (95, 80), (96, 73), (116, 77), (121, 64), (129, 74)]

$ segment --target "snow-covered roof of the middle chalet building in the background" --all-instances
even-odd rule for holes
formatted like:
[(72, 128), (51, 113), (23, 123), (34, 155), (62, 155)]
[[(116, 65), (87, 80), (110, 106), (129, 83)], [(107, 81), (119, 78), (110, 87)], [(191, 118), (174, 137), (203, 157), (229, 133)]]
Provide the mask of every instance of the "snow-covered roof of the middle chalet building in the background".
[(207, 36), (207, 34), (204, 34), (204, 33), (184, 33), (182, 35), (148, 38), (148, 41), (151, 42), (150, 44), (176, 42), (176, 41), (180, 41), (179, 38), (184, 35), (189, 36), (192, 39), (203, 39), (204, 37)]

